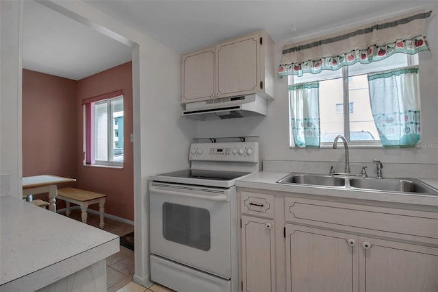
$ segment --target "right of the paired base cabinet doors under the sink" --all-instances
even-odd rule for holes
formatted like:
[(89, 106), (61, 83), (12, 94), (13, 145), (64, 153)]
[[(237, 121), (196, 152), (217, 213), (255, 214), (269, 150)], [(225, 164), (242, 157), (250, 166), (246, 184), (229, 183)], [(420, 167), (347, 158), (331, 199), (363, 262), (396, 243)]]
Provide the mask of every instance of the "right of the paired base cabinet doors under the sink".
[(360, 237), (361, 292), (438, 291), (438, 249)]

